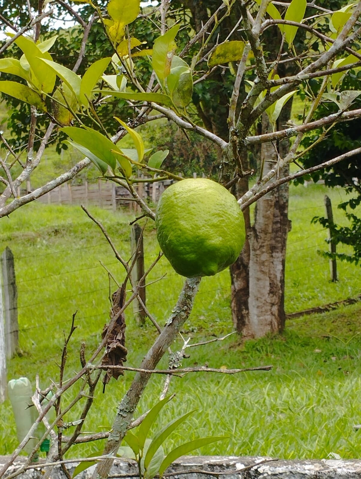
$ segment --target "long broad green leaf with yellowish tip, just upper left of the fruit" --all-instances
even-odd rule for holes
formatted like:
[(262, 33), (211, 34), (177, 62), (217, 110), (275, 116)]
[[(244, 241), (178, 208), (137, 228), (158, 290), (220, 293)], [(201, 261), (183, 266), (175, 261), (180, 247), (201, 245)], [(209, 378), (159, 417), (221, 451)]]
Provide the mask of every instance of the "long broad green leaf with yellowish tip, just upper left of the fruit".
[[(132, 174), (132, 167), (128, 160), (121, 158), (119, 159), (111, 150), (118, 151), (121, 153), (120, 149), (114, 145), (109, 138), (105, 137), (101, 133), (92, 128), (85, 127), (78, 128), (76, 126), (65, 126), (61, 128), (60, 131), (66, 133), (73, 141), (82, 145), (84, 148), (87, 148), (93, 153), (97, 158), (107, 163), (112, 170), (115, 170), (117, 166), (117, 160), (120, 163), (126, 176)], [(90, 160), (90, 159), (89, 159)]]

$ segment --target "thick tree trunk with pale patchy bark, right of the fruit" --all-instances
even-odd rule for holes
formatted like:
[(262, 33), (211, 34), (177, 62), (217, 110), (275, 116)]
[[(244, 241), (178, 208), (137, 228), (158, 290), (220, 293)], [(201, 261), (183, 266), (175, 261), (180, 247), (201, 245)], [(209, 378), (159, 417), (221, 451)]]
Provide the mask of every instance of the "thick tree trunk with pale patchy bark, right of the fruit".
[[(290, 102), (289, 102), (290, 103)], [(289, 119), (291, 105), (282, 111), (279, 124)], [(271, 131), (266, 114), (262, 118), (262, 132)], [(289, 150), (289, 142), (277, 146), (281, 157)], [(264, 174), (277, 160), (277, 151), (272, 143), (264, 143), (261, 160), (265, 160)], [(280, 171), (287, 175), (289, 167)], [(255, 207), (254, 223), (251, 226), (245, 215), (247, 241), (240, 257), (231, 268), (231, 309), (234, 327), (244, 338), (258, 338), (269, 332), (280, 332), (285, 326), (285, 261), (288, 219), (288, 183), (260, 198)], [(247, 225), (248, 223), (248, 225)]]

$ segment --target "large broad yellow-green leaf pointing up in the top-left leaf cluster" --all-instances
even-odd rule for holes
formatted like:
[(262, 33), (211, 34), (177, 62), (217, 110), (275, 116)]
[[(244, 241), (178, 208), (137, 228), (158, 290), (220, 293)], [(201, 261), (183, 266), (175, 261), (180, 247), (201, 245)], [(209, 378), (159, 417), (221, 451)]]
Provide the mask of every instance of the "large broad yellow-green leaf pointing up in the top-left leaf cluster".
[(15, 43), (23, 51), (26, 61), (30, 65), (32, 83), (39, 91), (44, 91), (45, 93), (53, 91), (56, 76), (47, 65), (39, 61), (39, 58), (51, 60), (50, 54), (42, 52), (33, 40), (25, 36), (19, 36)]

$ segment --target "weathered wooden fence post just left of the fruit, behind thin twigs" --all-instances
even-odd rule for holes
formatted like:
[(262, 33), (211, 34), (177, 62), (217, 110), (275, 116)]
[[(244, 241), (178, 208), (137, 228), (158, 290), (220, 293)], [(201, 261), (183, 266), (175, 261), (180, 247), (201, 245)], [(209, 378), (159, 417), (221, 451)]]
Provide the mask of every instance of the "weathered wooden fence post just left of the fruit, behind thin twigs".
[[(134, 225), (132, 226), (132, 233), (131, 233), (132, 255), (136, 254), (137, 244), (138, 244), (139, 238), (141, 237), (141, 234), (142, 234), (142, 228), (137, 223), (134, 223)], [(142, 236), (140, 240), (140, 244), (139, 244), (137, 259), (132, 269), (132, 280), (133, 280), (134, 286), (138, 285), (138, 283), (139, 283), (139, 286), (143, 286), (139, 290), (139, 296), (145, 305), (145, 285), (143, 282), (142, 284), (139, 282), (140, 278), (143, 275), (144, 275), (144, 244), (143, 244), (143, 236)], [(135, 298), (133, 301), (133, 313), (137, 323), (143, 326), (145, 323), (145, 313), (138, 301), (138, 298)]]

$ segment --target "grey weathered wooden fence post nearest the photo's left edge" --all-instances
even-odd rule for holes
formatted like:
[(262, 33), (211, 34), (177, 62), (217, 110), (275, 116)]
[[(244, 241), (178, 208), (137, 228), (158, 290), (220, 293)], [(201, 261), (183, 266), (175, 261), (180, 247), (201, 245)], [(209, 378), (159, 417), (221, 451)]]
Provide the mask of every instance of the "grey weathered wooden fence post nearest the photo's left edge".
[(6, 357), (12, 358), (19, 343), (18, 291), (15, 281), (14, 256), (7, 246), (1, 255), (3, 310), (5, 317)]

